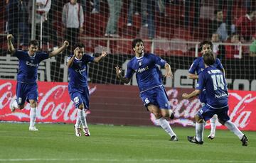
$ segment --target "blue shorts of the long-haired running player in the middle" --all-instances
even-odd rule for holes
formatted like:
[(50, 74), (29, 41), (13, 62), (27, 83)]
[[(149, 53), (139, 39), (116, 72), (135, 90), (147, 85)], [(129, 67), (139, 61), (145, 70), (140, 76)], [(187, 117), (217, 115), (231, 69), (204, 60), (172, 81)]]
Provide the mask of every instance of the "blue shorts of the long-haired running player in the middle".
[(155, 106), (159, 106), (159, 108), (171, 109), (164, 86), (144, 91), (140, 94), (140, 97), (146, 107), (151, 103)]

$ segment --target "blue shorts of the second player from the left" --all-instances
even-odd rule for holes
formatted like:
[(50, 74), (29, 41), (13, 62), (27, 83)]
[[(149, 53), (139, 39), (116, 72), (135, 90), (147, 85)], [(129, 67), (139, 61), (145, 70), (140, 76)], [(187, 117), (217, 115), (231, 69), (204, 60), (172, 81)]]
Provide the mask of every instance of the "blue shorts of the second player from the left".
[(68, 93), (71, 100), (75, 103), (75, 108), (79, 108), (80, 104), (84, 104), (86, 109), (89, 109), (89, 90), (88, 87), (71, 88), (68, 86)]

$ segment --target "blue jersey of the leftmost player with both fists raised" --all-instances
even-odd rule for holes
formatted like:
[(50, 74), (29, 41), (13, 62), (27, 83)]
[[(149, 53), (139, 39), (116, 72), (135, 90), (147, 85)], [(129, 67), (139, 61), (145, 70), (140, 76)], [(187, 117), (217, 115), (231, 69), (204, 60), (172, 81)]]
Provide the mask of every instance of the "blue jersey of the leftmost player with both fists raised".
[(14, 56), (18, 57), (17, 81), (28, 84), (36, 83), (39, 63), (49, 58), (46, 52), (36, 52), (35, 55), (30, 56), (28, 52), (21, 50), (16, 50)]

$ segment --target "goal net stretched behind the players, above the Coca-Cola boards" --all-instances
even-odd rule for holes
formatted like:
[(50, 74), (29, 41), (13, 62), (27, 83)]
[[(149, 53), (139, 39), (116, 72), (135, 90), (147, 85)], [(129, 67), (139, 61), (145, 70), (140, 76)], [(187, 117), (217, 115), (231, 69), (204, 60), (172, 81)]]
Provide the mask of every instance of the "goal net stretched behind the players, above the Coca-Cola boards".
[[(65, 60), (75, 42), (85, 44), (94, 56), (107, 50), (100, 64), (89, 65), (89, 81), (122, 84), (115, 76), (119, 65), (125, 72), (133, 57), (132, 40), (142, 38), (146, 52), (171, 64), (174, 79), (166, 86), (193, 88), (188, 68), (200, 56), (198, 43), (213, 41), (213, 51), (226, 71), (229, 89), (256, 90), (255, 1), (223, 0), (6, 0), (1, 1), (0, 78), (16, 79), (18, 62), (8, 55), (6, 34), (14, 46), (26, 50), (28, 41), (40, 41), (40, 50), (50, 52), (64, 40), (70, 48), (41, 63), (39, 81), (68, 81)], [(74, 4), (73, 4), (74, 3)], [(164, 71), (164, 70), (163, 70)], [(136, 85), (136, 80), (132, 80)]]

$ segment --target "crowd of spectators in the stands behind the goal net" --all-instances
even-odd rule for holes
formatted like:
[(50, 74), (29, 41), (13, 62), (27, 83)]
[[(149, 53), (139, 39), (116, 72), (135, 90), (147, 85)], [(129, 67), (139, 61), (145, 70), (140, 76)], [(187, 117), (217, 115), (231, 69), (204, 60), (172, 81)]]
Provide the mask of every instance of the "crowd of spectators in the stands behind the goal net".
[[(209, 38), (201, 39), (211, 39), (215, 44), (213, 50), (220, 58), (241, 58), (238, 55), (241, 49), (240, 45), (220, 45), (220, 43), (251, 43), (252, 45), (248, 48), (242, 47), (242, 52), (254, 57), (256, 49), (256, 3), (250, 0), (242, 1), (242, 6), (240, 7), (245, 9), (246, 13), (235, 18), (233, 13), (238, 8), (238, 6), (235, 6), (235, 1), (226, 3), (222, 0), (216, 1), (218, 5), (213, 4), (215, 9), (214, 17), (209, 18), (210, 21), (207, 24), (208, 30), (206, 32)], [(6, 32), (14, 35), (14, 44), (26, 47), (28, 38), (31, 38), (31, 1), (6, 0), (5, 3)], [(134, 26), (134, 16), (139, 16), (141, 18), (141, 26), (146, 29), (146, 37), (148, 39), (161, 39), (163, 36), (157, 35), (159, 33), (157, 29), (161, 26), (161, 21), (159, 20), (168, 19), (168, 17), (172, 16), (167, 13), (167, 6), (176, 5), (183, 6), (183, 13), (178, 16), (178, 25), (176, 20), (174, 26), (181, 26), (185, 30), (189, 30), (193, 35), (194, 29), (201, 28), (200, 12), (204, 3), (205, 1), (203, 0), (36, 0), (36, 39), (42, 40), (43, 44), (47, 44), (50, 41), (53, 47), (58, 45), (59, 39), (65, 39), (70, 42), (70, 47), (72, 48), (72, 45), (78, 41), (79, 35), (85, 33), (85, 26), (87, 26), (86, 16), (88, 14), (90, 16), (92, 14), (100, 14), (107, 17), (106, 26), (102, 28), (105, 30), (102, 37), (122, 37), (120, 28)], [(103, 8), (107, 8), (108, 12), (102, 10)], [(56, 10), (61, 12), (61, 23), (58, 22), (57, 25), (56, 23), (54, 25)], [(125, 21), (122, 26), (119, 23), (121, 17)], [(56, 32), (58, 29), (56, 26), (61, 26), (62, 37)], [(171, 24), (167, 28), (174, 28), (174, 26)], [(41, 28), (43, 30), (43, 39), (40, 38)]]

